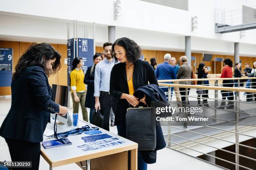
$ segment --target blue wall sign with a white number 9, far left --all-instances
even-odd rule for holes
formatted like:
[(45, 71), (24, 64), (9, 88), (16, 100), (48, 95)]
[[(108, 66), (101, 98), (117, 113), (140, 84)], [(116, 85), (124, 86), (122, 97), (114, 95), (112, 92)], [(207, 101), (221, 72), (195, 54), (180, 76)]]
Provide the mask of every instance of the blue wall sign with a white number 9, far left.
[(0, 87), (10, 87), (13, 74), (13, 49), (0, 48)]

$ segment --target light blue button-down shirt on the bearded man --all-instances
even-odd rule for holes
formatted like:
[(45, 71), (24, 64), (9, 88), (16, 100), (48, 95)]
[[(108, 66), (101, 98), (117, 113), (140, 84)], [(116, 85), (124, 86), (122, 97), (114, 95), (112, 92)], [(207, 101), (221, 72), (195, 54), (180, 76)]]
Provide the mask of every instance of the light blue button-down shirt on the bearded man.
[(94, 96), (100, 97), (100, 91), (109, 92), (110, 73), (113, 66), (118, 63), (113, 59), (109, 62), (106, 58), (95, 67)]

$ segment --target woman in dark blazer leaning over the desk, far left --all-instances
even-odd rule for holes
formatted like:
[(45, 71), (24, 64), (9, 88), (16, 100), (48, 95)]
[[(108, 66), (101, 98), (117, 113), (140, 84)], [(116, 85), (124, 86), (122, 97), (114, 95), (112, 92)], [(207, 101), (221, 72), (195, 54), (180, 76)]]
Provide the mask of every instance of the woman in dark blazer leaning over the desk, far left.
[(52, 101), (49, 75), (61, 67), (60, 54), (48, 43), (31, 45), (20, 57), (11, 83), (12, 104), (0, 128), (12, 161), (32, 161), (38, 170), (40, 142), (50, 113), (67, 114)]

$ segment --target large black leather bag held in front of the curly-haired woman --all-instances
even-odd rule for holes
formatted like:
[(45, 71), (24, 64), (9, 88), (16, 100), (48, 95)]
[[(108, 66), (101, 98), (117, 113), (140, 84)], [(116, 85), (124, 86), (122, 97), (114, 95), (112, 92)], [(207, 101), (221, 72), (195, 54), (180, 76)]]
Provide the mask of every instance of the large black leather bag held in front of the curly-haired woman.
[(154, 107), (128, 108), (126, 137), (138, 143), (138, 150), (156, 148), (156, 109)]

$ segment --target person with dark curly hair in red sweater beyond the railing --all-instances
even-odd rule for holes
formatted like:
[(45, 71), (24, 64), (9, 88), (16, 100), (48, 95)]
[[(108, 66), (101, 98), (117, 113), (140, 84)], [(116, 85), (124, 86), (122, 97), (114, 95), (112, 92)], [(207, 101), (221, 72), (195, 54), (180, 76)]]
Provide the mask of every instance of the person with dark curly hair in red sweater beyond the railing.
[[(223, 61), (223, 65), (224, 67), (221, 69), (222, 73), (221, 73), (221, 78), (231, 78), (233, 77), (233, 72), (232, 72), (232, 67), (233, 67), (233, 62), (232, 60), (230, 60), (229, 58), (226, 58)], [(233, 87), (234, 85), (234, 80), (223, 80), (223, 87)], [(231, 100), (234, 100), (234, 93), (233, 91), (225, 91), (225, 90), (221, 90), (220, 93), (222, 94), (222, 100), (226, 100), (226, 98), (228, 98), (228, 107), (226, 107), (227, 109), (233, 109), (234, 108), (234, 102), (232, 102)], [(221, 102), (220, 108), (224, 109), (225, 106), (225, 101)]]

